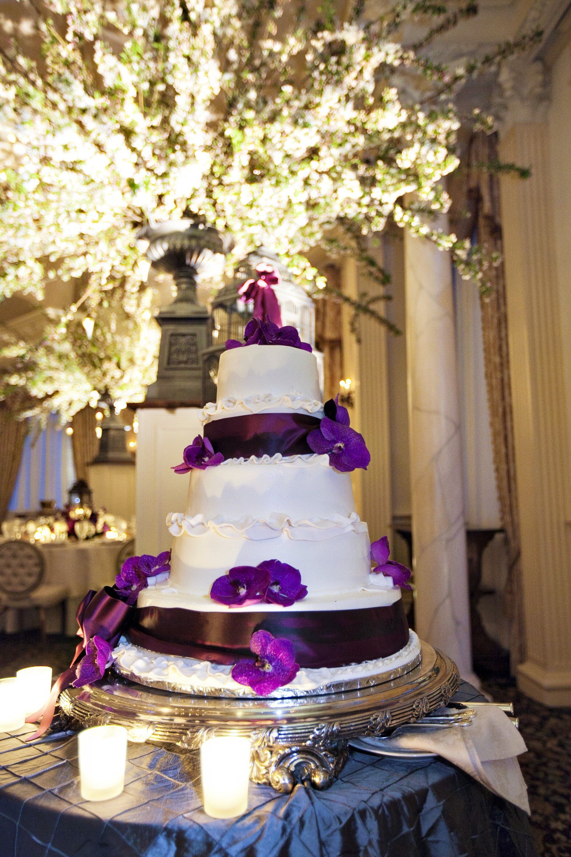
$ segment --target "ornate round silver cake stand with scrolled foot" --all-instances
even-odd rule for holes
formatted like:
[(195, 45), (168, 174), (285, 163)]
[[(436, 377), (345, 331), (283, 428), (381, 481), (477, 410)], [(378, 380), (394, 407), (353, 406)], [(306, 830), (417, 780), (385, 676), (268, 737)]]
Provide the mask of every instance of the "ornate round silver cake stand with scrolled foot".
[[(374, 681), (375, 677), (371, 678)], [(328, 788), (348, 758), (351, 738), (381, 735), (449, 703), (460, 684), (455, 663), (422, 643), (406, 674), (384, 674), (356, 690), (293, 698), (205, 697), (141, 686), (116, 674), (59, 699), (65, 728), (116, 723), (132, 741), (175, 752), (197, 750), (213, 735), (252, 740), (253, 782), (289, 792), (296, 782)]]

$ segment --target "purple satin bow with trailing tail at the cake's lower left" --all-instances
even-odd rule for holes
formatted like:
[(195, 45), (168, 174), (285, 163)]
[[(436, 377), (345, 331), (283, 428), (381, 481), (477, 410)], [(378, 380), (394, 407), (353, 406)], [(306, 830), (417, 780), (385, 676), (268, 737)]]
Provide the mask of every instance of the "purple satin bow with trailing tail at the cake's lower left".
[(110, 586), (105, 586), (98, 592), (89, 590), (75, 614), (79, 626), (77, 635), (81, 640), (75, 649), (74, 658), (68, 669), (62, 672), (51, 688), (50, 698), (46, 704), (39, 711), (27, 716), (27, 723), (35, 723), (40, 718), (41, 722), (36, 732), (28, 735), (25, 740), (35, 740), (49, 728), (56, 710), (57, 698), (75, 680), (75, 662), (83, 654), (88, 641), (97, 634), (98, 637), (103, 637), (111, 646), (114, 646), (132, 612), (133, 608), (116, 598), (115, 592)]

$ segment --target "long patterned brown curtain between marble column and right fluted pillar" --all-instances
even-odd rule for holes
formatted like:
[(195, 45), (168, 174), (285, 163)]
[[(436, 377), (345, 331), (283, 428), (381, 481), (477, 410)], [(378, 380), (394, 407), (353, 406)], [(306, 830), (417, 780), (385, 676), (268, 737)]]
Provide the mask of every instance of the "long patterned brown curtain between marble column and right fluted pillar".
[[(497, 135), (473, 135), (468, 157), (468, 200), (477, 241), (488, 251), (503, 252), (497, 175), (481, 166), (497, 162)], [(509, 381), (508, 321), (503, 264), (488, 272), (491, 291), (480, 298), (485, 380), (490, 407), (491, 441), (503, 529), (508, 544), (509, 576), (504, 604), (509, 617), (512, 669), (525, 658), (521, 597), (520, 521), (514, 460), (514, 424)]]

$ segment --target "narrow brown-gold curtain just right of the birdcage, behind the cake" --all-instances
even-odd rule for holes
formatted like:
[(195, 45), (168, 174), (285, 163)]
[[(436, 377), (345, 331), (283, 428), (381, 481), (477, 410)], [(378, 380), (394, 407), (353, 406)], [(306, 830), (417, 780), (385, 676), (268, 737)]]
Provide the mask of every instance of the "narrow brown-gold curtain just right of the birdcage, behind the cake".
[[(341, 289), (339, 268), (329, 265), (324, 273), (330, 285)], [(324, 354), (324, 401), (335, 399), (343, 377), (341, 331), (341, 303), (330, 297), (316, 301), (315, 344)]]

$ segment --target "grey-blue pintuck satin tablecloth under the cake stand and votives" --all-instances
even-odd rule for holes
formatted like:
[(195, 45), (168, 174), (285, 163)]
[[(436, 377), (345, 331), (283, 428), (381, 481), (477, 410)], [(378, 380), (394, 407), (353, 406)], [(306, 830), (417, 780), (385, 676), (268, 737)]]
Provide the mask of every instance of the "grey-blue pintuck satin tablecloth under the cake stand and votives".
[(74, 736), (0, 735), (0, 765), (1, 857), (537, 857), (525, 813), (440, 759), (352, 751), (328, 791), (252, 784), (229, 821), (202, 809), (196, 753), (130, 744), (125, 790), (104, 803), (81, 799)]

